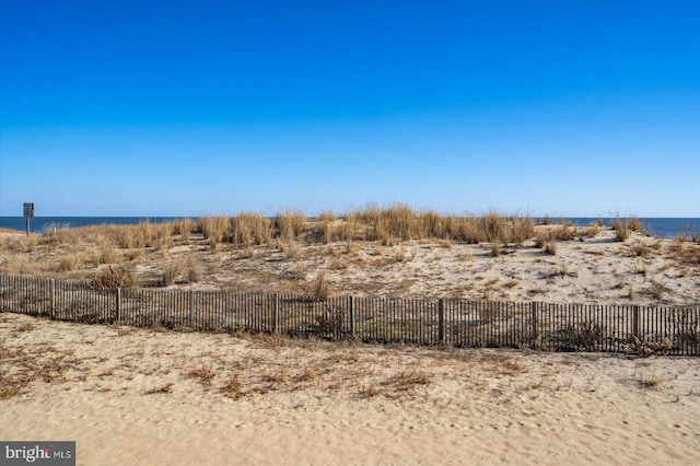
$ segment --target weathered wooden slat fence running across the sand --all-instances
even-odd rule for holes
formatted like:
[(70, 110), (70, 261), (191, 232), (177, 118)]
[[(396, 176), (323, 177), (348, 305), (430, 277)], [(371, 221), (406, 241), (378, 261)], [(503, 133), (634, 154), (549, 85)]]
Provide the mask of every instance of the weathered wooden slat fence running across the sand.
[[(95, 289), (0, 273), (0, 312), (199, 331), (366, 342), (700, 354), (700, 308)], [(634, 346), (637, 345), (637, 346)]]

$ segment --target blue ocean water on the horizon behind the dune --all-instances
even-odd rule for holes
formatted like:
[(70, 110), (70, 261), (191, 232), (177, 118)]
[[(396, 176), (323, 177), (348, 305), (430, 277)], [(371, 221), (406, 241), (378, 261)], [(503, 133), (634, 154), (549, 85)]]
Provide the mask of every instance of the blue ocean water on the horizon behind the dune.
[[(32, 219), (31, 231), (42, 233), (47, 230), (70, 228), (78, 229), (81, 226), (92, 225), (135, 225), (142, 222), (162, 223), (179, 221), (183, 218), (177, 217), (35, 217)], [(196, 219), (192, 219), (196, 220)], [(562, 219), (552, 219), (557, 223)], [(604, 224), (609, 224), (610, 218), (592, 218), (578, 217), (568, 218), (578, 225), (586, 226), (602, 220)], [(625, 219), (621, 219), (625, 221)], [(677, 237), (681, 234), (695, 236), (700, 235), (700, 219), (698, 218), (640, 218), (645, 229), (650, 230), (652, 235), (658, 237)], [(26, 224), (24, 217), (0, 217), (0, 228), (25, 231)]]

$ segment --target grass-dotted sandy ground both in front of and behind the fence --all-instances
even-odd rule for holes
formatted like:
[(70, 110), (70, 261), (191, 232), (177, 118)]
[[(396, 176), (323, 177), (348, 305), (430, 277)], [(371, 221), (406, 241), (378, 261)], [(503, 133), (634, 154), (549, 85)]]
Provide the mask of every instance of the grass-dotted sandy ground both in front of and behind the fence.
[[(107, 286), (697, 305), (698, 238), (368, 207), (0, 234), (0, 271)], [(0, 314), (0, 439), (79, 464), (693, 464), (691, 358), (330, 343)]]

